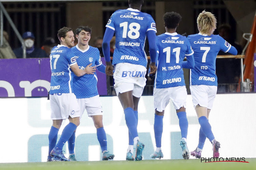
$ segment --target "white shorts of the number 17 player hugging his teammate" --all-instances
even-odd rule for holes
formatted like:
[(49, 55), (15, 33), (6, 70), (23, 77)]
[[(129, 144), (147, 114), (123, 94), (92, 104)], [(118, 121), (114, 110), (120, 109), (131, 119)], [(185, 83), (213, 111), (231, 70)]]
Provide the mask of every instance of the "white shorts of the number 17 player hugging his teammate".
[(58, 93), (50, 95), (51, 119), (63, 120), (70, 117), (80, 117), (79, 107), (73, 93)]

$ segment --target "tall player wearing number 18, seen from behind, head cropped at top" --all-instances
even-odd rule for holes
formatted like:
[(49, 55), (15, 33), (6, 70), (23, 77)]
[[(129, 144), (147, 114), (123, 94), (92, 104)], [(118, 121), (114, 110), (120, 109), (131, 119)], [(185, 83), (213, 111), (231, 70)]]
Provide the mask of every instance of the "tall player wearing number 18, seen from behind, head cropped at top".
[[(143, 0), (129, 0), (129, 8), (117, 10), (110, 17), (103, 37), (103, 54), (106, 60), (106, 74), (113, 75), (114, 88), (123, 106), (129, 130), (129, 147), (126, 160), (134, 160), (133, 144), (136, 146), (135, 160), (142, 160), (144, 145), (139, 141), (138, 103), (146, 85), (147, 56), (144, 51), (145, 39), (150, 47), (151, 72), (155, 73), (156, 24), (151, 15), (141, 12)], [(113, 62), (110, 61), (110, 40), (115, 33), (116, 44)]]

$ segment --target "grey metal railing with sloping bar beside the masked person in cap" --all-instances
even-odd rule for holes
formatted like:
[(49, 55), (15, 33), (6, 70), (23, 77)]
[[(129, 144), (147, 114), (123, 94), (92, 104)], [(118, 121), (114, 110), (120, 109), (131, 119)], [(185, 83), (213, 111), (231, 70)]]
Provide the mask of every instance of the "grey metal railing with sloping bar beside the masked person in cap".
[(8, 12), (5, 10), (2, 2), (0, 2), (0, 28), (1, 28), (1, 40), (0, 40), (0, 47), (3, 46), (3, 14), (5, 15), (6, 19), (10, 23), (14, 33), (17, 35), (20, 43), (22, 44), (22, 49), (23, 49), (23, 58), (26, 58), (26, 47), (24, 44), (24, 40), (22, 36), (20, 35), (19, 31), (17, 30), (15, 24), (13, 23), (11, 17), (9, 16)]

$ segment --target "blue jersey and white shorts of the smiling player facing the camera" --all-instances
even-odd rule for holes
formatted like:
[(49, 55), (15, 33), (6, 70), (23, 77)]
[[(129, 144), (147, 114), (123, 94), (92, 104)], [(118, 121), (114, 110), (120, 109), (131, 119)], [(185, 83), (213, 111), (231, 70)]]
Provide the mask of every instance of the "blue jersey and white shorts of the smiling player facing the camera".
[[(85, 69), (87, 65), (92, 63), (92, 67), (105, 73), (105, 66), (101, 62), (100, 52), (98, 48), (88, 46), (87, 49), (81, 50), (78, 45), (72, 47), (72, 52), (76, 56), (76, 62), (80, 69)], [(100, 98), (97, 89), (97, 74), (85, 74), (77, 77), (72, 73), (73, 90), (79, 104), (80, 114), (83, 115), (85, 109), (89, 117), (94, 115), (103, 115)]]

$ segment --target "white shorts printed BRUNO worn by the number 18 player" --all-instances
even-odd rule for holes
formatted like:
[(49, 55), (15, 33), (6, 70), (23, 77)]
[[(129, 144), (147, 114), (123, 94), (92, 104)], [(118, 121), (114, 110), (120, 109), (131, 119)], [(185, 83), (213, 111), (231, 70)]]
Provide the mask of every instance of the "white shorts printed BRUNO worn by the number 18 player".
[(114, 72), (114, 88), (116, 95), (131, 91), (134, 97), (141, 97), (143, 89), (146, 85), (147, 69), (142, 65), (130, 63), (116, 64)]

